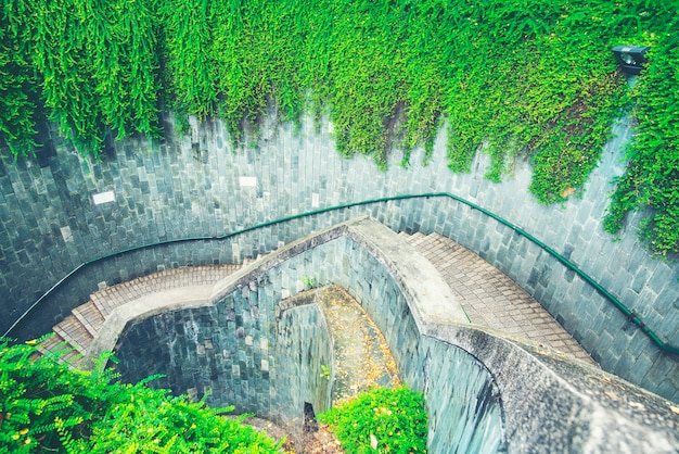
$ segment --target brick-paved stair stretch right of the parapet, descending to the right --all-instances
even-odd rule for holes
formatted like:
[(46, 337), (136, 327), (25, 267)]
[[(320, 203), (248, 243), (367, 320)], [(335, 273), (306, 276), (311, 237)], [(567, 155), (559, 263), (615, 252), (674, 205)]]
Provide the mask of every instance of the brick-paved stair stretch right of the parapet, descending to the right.
[(441, 274), (473, 324), (595, 364), (538, 301), (472, 251), (438, 234), (402, 236)]

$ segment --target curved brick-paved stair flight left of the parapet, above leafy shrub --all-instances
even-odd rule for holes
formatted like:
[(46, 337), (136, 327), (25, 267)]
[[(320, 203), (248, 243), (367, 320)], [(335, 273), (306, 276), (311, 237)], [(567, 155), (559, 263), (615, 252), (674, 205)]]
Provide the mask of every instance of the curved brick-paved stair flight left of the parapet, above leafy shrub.
[(103, 288), (90, 295), (90, 301), (72, 311), (72, 315), (55, 325), (54, 336), (39, 345), (42, 353), (66, 350), (61, 361), (72, 361), (85, 354), (105, 319), (118, 306), (154, 292), (190, 286), (214, 285), (240, 269), (242, 265), (189, 266), (166, 269), (117, 286)]

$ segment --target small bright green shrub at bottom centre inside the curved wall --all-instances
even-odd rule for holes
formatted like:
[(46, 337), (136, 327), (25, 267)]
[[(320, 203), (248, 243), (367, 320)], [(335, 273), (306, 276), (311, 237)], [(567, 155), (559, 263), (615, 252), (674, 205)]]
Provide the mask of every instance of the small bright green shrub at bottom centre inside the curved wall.
[(319, 415), (348, 453), (426, 452), (427, 416), (422, 394), (375, 388)]

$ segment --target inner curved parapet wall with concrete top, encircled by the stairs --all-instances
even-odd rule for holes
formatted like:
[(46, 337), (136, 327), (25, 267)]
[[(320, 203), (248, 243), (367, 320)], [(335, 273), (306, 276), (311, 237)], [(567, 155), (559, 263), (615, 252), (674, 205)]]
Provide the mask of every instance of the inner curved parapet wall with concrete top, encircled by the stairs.
[(179, 392), (200, 396), (210, 388), (215, 404), (235, 402), (240, 411), (294, 424), (303, 401), (326, 395), (319, 363), (332, 363), (325, 324), (299, 293), (305, 276), (349, 290), (382, 330), (401, 379), (424, 392), (432, 453), (679, 447), (679, 417), (665, 400), (597, 367), (472, 327), (433, 265), (367, 218), (255, 262), (215, 285), (203, 302), (188, 293), (183, 307), (171, 298), (119, 306), (100, 332), (118, 340), (126, 378), (181, 367), (174, 375)]

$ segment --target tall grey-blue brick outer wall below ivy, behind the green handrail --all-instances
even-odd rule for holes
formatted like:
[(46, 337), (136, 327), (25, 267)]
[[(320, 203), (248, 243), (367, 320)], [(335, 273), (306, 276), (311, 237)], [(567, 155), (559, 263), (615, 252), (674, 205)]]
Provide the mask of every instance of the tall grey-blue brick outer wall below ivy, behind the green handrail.
[[(267, 122), (273, 122), (271, 117)], [(630, 135), (625, 123), (586, 191), (545, 207), (527, 194), (529, 168), (511, 178), (483, 178), (446, 168), (444, 135), (428, 166), (408, 171), (393, 162), (379, 173), (372, 162), (337, 156), (329, 125), (310, 122), (262, 126), (254, 149), (232, 150), (219, 121), (194, 123), (190, 135), (165, 142), (142, 138), (111, 144), (100, 162), (49, 138), (39, 161), (0, 163), (0, 320), (3, 331), (36, 299), (84, 262), (141, 244), (215, 236), (316, 207), (399, 193), (447, 191), (507, 218), (536, 236), (608, 289), (666, 342), (679, 344), (679, 262), (648, 256), (635, 219), (622, 240), (601, 230), (611, 179), (620, 175)], [(171, 130), (171, 125), (168, 125)], [(417, 162), (419, 154), (414, 153)], [(396, 161), (396, 157), (395, 157)], [(240, 261), (270, 251), (320, 227), (368, 213), (395, 230), (436, 230), (477, 252), (536, 297), (602, 367), (679, 401), (677, 358), (662, 353), (615, 307), (539, 248), (454, 201), (389, 202), (318, 215), (225, 241), (179, 243), (112, 257), (87, 266), (46, 299), (14, 333), (46, 332), (98, 283), (115, 283), (163, 267)]]

